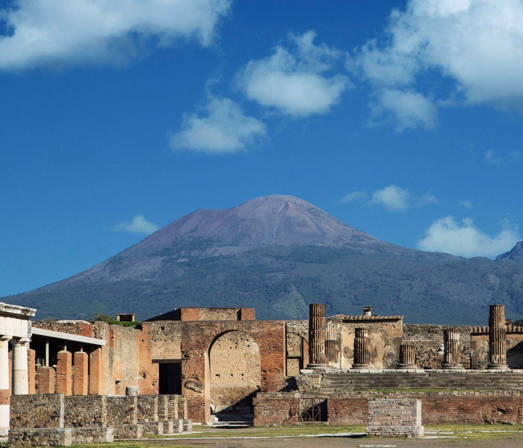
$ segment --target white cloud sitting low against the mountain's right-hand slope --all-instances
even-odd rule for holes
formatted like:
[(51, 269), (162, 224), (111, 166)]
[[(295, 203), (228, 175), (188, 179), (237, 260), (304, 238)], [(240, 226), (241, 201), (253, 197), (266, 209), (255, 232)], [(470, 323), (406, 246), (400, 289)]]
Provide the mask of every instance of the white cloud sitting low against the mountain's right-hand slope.
[(457, 222), (447, 216), (430, 225), (425, 237), (418, 242), (418, 248), (467, 258), (494, 257), (510, 250), (519, 239), (516, 228), (506, 226), (491, 237), (477, 228), (470, 218)]

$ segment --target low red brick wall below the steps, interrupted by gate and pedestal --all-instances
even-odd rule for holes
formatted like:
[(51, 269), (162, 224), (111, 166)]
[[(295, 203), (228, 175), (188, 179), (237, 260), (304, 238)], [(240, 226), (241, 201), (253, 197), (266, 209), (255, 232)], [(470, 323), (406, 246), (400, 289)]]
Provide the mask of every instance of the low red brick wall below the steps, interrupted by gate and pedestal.
[[(489, 396), (419, 396), (422, 400), (422, 424), (523, 423), (523, 397)], [(254, 425), (298, 423), (298, 398), (254, 398)], [(367, 424), (368, 399), (332, 397), (327, 399), (329, 424)]]

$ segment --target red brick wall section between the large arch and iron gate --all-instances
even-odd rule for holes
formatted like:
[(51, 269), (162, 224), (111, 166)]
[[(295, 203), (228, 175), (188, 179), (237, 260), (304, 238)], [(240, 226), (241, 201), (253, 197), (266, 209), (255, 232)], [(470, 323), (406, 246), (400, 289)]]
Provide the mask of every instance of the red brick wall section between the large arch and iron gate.
[(298, 423), (298, 398), (253, 398), (254, 426)]

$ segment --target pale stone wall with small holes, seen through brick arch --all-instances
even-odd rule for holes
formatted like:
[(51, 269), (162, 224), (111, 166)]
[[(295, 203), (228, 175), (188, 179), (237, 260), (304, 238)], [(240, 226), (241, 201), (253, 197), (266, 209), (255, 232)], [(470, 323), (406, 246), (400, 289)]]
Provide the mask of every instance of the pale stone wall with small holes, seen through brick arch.
[(220, 411), (233, 405), (249, 406), (261, 384), (260, 350), (241, 331), (216, 339), (209, 352), (211, 405)]

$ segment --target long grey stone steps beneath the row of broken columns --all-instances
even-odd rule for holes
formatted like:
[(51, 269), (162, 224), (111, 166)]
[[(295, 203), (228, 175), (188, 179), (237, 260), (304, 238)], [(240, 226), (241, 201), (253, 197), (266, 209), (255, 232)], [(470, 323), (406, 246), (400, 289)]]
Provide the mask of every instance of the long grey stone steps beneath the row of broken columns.
[(343, 393), (355, 390), (382, 390), (404, 388), (438, 388), (467, 390), (523, 390), (523, 373), (470, 372), (380, 372), (380, 373), (325, 373), (320, 384), (321, 393)]

